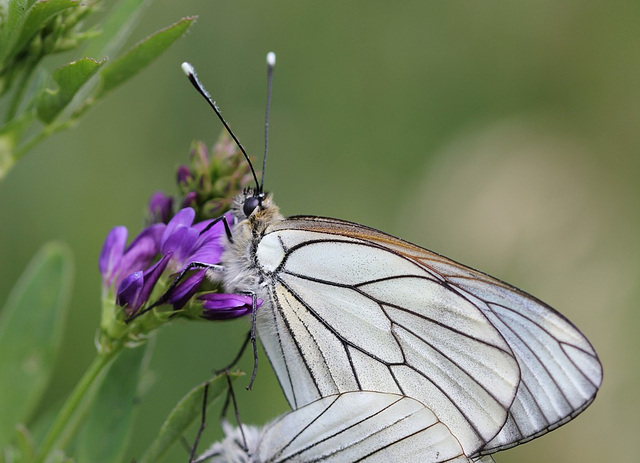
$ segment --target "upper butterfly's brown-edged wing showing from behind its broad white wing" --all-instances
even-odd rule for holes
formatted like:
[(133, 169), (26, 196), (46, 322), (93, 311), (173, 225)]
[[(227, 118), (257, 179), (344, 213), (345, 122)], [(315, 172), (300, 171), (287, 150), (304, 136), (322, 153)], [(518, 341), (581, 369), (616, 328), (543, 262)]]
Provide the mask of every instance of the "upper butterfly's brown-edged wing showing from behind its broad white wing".
[[(500, 332), (518, 361), (521, 381), (505, 426), (479, 453), (512, 447), (555, 429), (579, 414), (595, 398), (602, 382), (602, 366), (595, 350), (569, 320), (533, 296), (482, 272), (357, 224), (303, 217), (285, 222), (289, 228), (346, 235), (404, 256), (420, 265), (435, 281), (476, 306)], [(396, 298), (406, 297), (399, 292), (391, 293)]]

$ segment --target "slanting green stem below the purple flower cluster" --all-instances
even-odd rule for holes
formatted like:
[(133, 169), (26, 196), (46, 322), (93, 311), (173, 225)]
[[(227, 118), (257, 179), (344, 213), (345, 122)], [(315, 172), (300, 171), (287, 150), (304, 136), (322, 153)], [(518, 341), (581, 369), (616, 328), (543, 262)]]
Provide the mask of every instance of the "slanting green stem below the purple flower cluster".
[(93, 363), (89, 366), (89, 369), (85, 372), (84, 376), (80, 379), (80, 382), (76, 385), (64, 406), (58, 413), (56, 421), (53, 423), (49, 432), (45, 436), (44, 442), (38, 455), (36, 457), (36, 463), (42, 463), (47, 458), (49, 452), (53, 449), (58, 438), (65, 430), (69, 421), (73, 417), (74, 412), (80, 405), (80, 402), (85, 397), (87, 391), (93, 385), (95, 379), (104, 370), (104, 368), (115, 358), (115, 356), (122, 351), (123, 344), (114, 347), (111, 350), (98, 353), (97, 357), (93, 360)]

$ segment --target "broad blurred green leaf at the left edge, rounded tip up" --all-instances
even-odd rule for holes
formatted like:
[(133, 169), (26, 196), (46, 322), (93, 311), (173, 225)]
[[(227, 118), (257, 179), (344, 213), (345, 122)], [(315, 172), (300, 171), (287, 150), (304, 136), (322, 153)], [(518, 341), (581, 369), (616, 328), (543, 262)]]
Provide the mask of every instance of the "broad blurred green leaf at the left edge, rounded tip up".
[(71, 293), (69, 249), (45, 245), (0, 313), (0, 447), (38, 405), (53, 370)]

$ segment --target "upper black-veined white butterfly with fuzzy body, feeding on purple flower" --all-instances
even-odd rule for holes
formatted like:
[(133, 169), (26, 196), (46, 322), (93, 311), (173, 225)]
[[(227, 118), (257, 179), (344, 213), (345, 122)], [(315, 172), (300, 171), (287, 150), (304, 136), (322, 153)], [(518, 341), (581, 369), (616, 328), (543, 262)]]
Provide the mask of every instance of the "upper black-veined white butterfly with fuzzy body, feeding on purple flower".
[(598, 355), (544, 302), (364, 225), (285, 218), (264, 177), (254, 179), (234, 200), (211, 277), (264, 301), (254, 326), (293, 409), (350, 391), (408, 396), (475, 458), (545, 434), (594, 400)]

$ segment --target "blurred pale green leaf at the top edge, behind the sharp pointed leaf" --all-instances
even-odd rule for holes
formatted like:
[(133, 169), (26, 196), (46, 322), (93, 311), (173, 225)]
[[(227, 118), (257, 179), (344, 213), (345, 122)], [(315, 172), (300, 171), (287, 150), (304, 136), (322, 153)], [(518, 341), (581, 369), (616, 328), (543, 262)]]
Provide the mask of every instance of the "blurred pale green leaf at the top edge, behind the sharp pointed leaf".
[(125, 40), (131, 35), (140, 15), (153, 0), (121, 0), (111, 8), (101, 27), (99, 36), (89, 42), (84, 50), (86, 56), (115, 56)]

